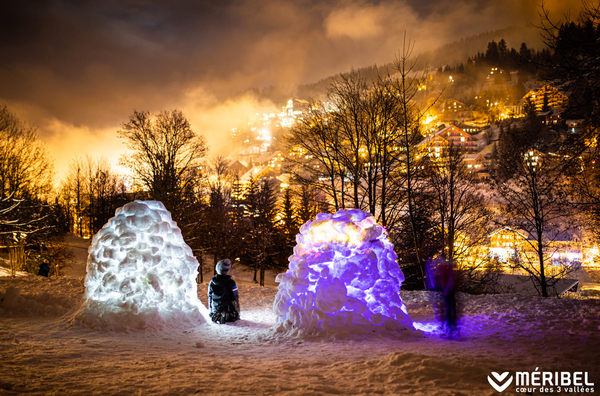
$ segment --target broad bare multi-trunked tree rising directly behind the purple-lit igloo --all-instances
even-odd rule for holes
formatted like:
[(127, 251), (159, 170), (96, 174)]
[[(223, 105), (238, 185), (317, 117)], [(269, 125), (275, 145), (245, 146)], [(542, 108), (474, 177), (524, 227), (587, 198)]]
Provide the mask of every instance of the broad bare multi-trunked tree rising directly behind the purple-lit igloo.
[(314, 103), (288, 139), (299, 180), (325, 192), (336, 210), (362, 209), (384, 226), (399, 209), (391, 191), (401, 166), (393, 152), (402, 119), (396, 93), (389, 79), (367, 83), (358, 72), (341, 74), (327, 102)]

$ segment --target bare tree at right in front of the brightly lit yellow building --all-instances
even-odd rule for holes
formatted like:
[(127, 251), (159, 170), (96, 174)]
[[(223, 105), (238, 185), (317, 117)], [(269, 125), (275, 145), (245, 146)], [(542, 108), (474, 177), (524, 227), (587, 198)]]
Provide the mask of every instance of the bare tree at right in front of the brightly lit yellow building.
[(502, 200), (506, 220), (514, 229), (525, 231), (529, 238), (521, 260), (515, 263), (527, 272), (540, 296), (575, 270), (570, 263), (554, 263), (558, 271), (549, 274), (554, 242), (571, 228), (573, 205), (569, 202), (567, 168), (571, 162), (563, 156), (522, 148), (517, 155), (496, 161), (493, 186)]

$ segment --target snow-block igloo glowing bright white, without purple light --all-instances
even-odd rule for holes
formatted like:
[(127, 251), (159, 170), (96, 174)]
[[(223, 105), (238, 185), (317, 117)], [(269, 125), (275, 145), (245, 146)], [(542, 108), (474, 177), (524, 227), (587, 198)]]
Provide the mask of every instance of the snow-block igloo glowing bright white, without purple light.
[(86, 291), (75, 322), (112, 330), (206, 322), (198, 261), (161, 202), (135, 201), (117, 209), (88, 253)]

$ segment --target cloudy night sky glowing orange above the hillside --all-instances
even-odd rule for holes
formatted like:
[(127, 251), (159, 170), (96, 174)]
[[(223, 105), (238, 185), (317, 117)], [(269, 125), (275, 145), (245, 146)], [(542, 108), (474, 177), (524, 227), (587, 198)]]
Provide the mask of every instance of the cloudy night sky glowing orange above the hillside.
[[(416, 51), (539, 23), (531, 0), (21, 1), (0, 3), (0, 103), (39, 127), (58, 178), (86, 153), (111, 162), (133, 109), (178, 108), (213, 153), (254, 114), (252, 87), (310, 83)], [(556, 18), (579, 1), (545, 2)]]

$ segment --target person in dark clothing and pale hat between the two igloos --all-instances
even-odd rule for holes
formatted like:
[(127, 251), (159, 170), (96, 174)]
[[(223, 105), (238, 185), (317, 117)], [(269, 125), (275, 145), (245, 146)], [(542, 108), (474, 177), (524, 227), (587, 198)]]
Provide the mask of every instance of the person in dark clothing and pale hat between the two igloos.
[(237, 285), (227, 275), (231, 269), (228, 259), (220, 260), (215, 266), (217, 274), (208, 285), (210, 317), (215, 323), (235, 322), (240, 318), (240, 299)]

